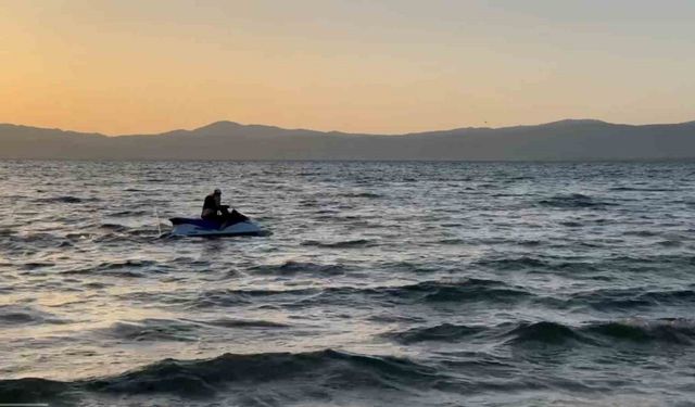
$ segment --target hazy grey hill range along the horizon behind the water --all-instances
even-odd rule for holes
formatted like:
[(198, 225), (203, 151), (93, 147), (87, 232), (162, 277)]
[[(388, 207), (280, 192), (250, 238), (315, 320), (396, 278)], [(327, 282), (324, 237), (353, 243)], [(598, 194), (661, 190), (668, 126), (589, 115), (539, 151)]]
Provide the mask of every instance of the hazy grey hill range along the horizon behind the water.
[(612, 161), (695, 158), (695, 122), (630, 126), (561, 120), (401, 136), (217, 122), (194, 130), (105, 137), (0, 125), (0, 158)]

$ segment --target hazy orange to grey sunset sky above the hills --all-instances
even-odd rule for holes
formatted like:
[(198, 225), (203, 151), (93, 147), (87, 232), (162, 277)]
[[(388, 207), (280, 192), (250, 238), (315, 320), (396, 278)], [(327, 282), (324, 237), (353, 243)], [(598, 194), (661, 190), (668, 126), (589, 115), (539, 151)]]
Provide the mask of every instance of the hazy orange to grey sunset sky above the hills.
[(694, 73), (692, 0), (0, 0), (0, 123), (672, 123)]

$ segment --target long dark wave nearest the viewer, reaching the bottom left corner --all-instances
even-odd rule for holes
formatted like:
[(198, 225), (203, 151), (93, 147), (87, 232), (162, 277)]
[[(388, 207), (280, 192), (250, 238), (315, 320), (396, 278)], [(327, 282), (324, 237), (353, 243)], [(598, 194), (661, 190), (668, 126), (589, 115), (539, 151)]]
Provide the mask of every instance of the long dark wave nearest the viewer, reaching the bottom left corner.
[(184, 398), (213, 397), (235, 383), (250, 385), (311, 382), (320, 389), (426, 389), (451, 378), (407, 358), (368, 356), (333, 349), (305, 353), (224, 354), (212, 359), (164, 359), (122, 374), (83, 381), (45, 379), (0, 380), (4, 403), (60, 400), (84, 393), (121, 396), (174, 394)]

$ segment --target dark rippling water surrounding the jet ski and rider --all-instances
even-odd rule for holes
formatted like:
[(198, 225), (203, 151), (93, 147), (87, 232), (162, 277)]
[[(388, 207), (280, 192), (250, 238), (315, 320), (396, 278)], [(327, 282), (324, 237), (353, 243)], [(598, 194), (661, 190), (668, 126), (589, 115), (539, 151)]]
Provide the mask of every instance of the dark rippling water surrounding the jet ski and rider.
[[(0, 402), (693, 406), (694, 179), (0, 162)], [(159, 237), (215, 187), (273, 234)]]

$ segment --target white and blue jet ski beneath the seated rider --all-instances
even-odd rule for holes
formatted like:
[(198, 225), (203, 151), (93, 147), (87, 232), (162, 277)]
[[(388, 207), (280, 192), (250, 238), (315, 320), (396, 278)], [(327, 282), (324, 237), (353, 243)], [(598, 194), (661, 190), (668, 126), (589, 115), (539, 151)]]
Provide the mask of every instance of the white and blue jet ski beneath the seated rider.
[(174, 236), (258, 236), (263, 230), (236, 209), (226, 219), (170, 218)]

